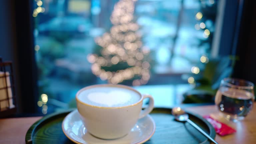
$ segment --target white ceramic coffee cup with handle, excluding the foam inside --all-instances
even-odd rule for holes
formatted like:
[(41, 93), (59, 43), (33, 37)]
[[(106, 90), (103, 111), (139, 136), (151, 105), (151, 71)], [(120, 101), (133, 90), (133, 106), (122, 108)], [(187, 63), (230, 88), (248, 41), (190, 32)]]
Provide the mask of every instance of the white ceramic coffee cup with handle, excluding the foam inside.
[[(102, 107), (82, 102), (79, 94), (91, 88), (115, 87), (136, 92), (140, 99), (134, 104), (119, 107)], [(142, 110), (143, 99), (149, 98), (149, 106)], [(154, 99), (150, 95), (141, 95), (137, 90), (124, 85), (92, 85), (76, 93), (77, 109), (87, 131), (101, 139), (117, 139), (127, 135), (138, 119), (145, 117), (154, 108)]]

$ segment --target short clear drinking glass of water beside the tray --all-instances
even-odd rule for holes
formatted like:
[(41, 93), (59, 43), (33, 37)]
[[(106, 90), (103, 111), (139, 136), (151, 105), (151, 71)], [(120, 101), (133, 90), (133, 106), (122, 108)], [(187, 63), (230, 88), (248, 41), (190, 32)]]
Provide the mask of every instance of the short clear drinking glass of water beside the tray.
[(215, 96), (220, 115), (227, 120), (243, 120), (253, 107), (253, 83), (243, 79), (224, 78)]

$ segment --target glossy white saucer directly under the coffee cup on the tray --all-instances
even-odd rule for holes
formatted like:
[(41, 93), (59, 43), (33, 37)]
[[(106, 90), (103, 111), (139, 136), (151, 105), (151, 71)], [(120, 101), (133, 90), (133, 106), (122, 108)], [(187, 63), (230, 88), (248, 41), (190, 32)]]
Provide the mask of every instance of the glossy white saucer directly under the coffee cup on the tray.
[(156, 129), (155, 122), (147, 115), (139, 119), (131, 132), (120, 139), (103, 140), (92, 136), (84, 127), (77, 110), (69, 113), (62, 122), (64, 134), (77, 144), (141, 144), (149, 140)]

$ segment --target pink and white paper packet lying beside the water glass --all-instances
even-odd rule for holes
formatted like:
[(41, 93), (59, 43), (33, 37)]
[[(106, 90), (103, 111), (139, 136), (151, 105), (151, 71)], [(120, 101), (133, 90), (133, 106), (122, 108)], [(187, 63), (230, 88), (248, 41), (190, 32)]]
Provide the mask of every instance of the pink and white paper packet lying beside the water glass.
[(224, 136), (236, 132), (232, 127), (213, 119), (210, 115), (203, 116), (209, 123), (212, 124), (217, 134)]

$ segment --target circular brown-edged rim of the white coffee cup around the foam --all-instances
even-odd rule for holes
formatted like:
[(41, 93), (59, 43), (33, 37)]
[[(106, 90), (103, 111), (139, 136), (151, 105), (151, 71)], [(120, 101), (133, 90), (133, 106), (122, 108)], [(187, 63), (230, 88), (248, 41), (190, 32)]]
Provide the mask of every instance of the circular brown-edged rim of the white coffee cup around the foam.
[[(134, 104), (131, 104), (131, 105), (127, 105), (127, 106), (120, 106), (120, 107), (102, 107), (102, 106), (95, 106), (95, 105), (91, 105), (91, 104), (88, 104), (88, 103), (85, 103), (85, 102), (82, 102), (79, 98), (78, 98), (78, 95), (84, 91), (84, 90), (87, 90), (87, 89), (91, 89), (91, 88), (96, 88), (96, 87), (119, 87), (119, 88), (124, 88), (124, 89), (129, 89), (129, 90), (132, 90), (136, 93), (138, 93), (140, 95), (140, 100)], [(77, 93), (76, 93), (76, 101), (83, 104), (83, 105), (87, 105), (87, 106), (90, 106), (90, 107), (95, 107), (95, 108), (103, 108), (103, 109), (119, 109), (119, 108), (126, 108), (126, 107), (131, 107), (131, 106), (135, 106), (135, 105), (138, 105), (139, 103), (141, 103), (143, 100), (143, 96), (141, 95), (140, 92), (138, 92), (137, 90), (133, 89), (132, 87), (129, 87), (129, 86), (126, 86), (126, 85), (121, 85), (121, 84), (96, 84), (96, 85), (90, 85), (90, 86), (86, 86), (82, 89), (80, 89)]]

